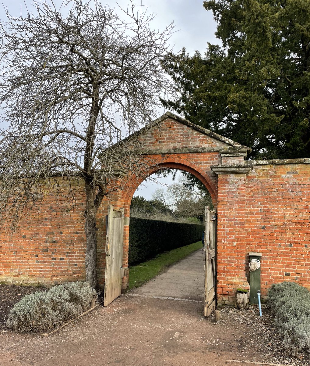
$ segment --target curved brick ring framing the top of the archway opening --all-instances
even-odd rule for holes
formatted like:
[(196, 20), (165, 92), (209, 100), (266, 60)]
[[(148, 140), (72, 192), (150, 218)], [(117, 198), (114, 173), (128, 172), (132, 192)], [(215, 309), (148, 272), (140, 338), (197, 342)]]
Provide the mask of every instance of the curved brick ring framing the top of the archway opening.
[[(151, 167), (148, 170), (148, 176), (156, 173), (157, 171), (161, 170), (162, 168), (171, 168), (171, 169), (178, 169), (178, 170), (184, 170), (186, 172), (191, 173), (193, 176), (198, 178), (201, 183), (204, 184), (204, 186), (207, 188), (211, 195), (213, 206), (217, 206), (217, 195), (218, 195), (218, 189), (214, 182), (212, 182), (211, 178), (207, 174), (207, 172), (203, 171), (199, 166), (196, 164), (190, 163), (188, 160), (184, 160), (181, 158), (165, 158), (160, 162), (160, 164), (156, 165), (156, 167)], [(133, 180), (134, 177), (131, 177), (131, 180)], [(131, 199), (133, 197), (133, 194), (135, 193), (137, 187), (145, 180), (145, 178), (136, 179), (135, 184), (131, 185), (131, 189), (127, 191), (124, 201), (128, 203), (130, 206)], [(133, 182), (132, 182), (133, 183)]]

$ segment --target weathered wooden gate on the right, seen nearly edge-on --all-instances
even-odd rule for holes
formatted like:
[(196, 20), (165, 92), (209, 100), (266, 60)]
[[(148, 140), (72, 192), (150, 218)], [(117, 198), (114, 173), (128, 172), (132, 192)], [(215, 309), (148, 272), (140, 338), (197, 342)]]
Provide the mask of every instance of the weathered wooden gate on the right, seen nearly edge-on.
[(204, 316), (208, 317), (216, 307), (216, 211), (209, 206), (205, 206), (204, 225)]

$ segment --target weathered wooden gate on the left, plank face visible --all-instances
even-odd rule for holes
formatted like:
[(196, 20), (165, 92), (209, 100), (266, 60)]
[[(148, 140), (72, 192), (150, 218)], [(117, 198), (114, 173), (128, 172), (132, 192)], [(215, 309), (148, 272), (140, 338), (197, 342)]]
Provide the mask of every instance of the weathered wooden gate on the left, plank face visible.
[(106, 270), (104, 306), (121, 295), (124, 236), (124, 209), (109, 206), (106, 234)]

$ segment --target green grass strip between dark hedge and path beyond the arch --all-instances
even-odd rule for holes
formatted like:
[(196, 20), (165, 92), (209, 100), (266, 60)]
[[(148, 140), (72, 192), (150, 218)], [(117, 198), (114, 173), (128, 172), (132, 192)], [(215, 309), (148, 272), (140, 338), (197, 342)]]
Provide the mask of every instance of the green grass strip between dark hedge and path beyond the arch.
[(203, 244), (200, 242), (186, 245), (181, 248), (166, 251), (158, 254), (156, 258), (143, 262), (129, 269), (129, 290), (143, 285), (162, 272), (167, 266), (201, 249)]

